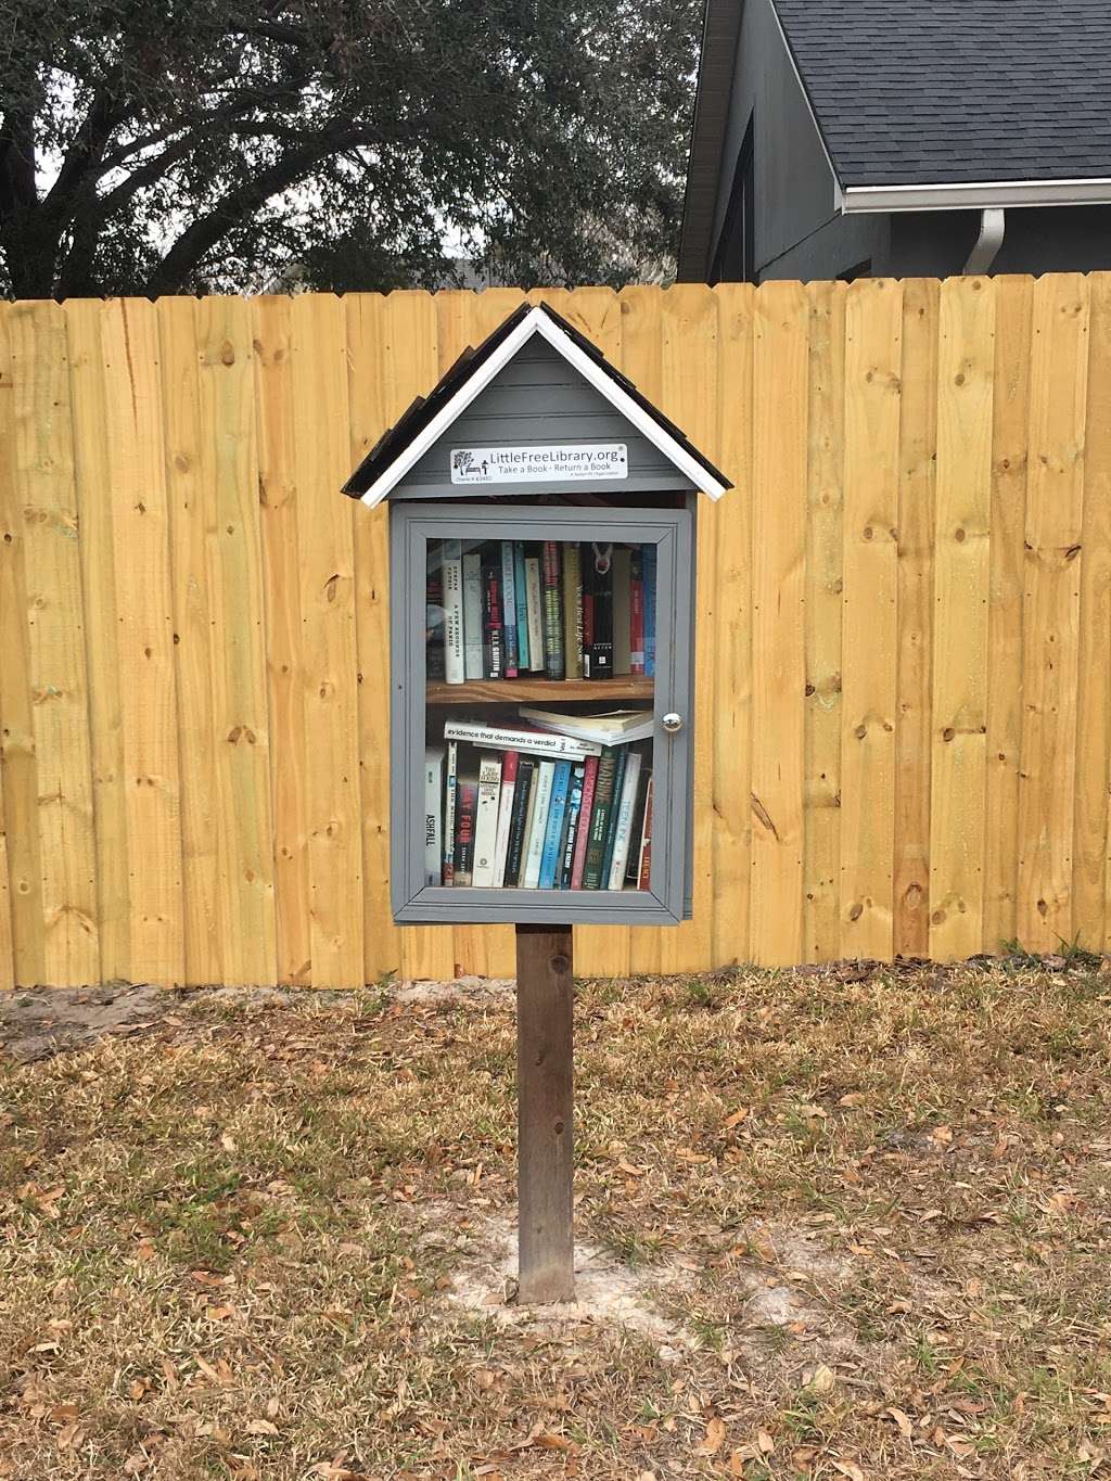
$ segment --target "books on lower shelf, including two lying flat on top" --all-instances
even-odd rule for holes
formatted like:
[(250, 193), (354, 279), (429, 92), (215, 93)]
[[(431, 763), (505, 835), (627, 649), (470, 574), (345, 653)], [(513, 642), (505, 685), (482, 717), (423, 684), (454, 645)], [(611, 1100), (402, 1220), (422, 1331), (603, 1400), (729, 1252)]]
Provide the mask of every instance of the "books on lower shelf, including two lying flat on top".
[(532, 724), (449, 718), (427, 748), (425, 884), (646, 890), (650, 712), (521, 714)]

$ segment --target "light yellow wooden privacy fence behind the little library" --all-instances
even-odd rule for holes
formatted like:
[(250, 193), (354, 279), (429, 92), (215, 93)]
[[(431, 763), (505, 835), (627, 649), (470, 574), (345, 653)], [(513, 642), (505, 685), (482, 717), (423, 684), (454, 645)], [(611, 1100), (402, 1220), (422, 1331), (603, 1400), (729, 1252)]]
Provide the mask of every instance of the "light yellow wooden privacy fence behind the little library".
[[(1111, 275), (544, 293), (736, 481), (695, 920), (588, 973), (1102, 948)], [(0, 982), (508, 973), (390, 923), (385, 511), (517, 292), (0, 310)]]

